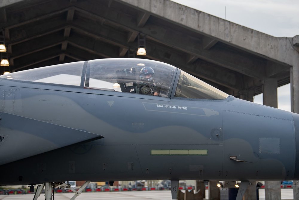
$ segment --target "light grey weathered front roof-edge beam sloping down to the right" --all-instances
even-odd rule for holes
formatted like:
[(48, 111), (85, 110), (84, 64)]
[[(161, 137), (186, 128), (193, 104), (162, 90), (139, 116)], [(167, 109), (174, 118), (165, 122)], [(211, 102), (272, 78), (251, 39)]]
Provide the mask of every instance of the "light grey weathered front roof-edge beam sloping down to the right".
[(259, 56), (292, 65), (288, 38), (277, 38), (169, 0), (116, 0)]

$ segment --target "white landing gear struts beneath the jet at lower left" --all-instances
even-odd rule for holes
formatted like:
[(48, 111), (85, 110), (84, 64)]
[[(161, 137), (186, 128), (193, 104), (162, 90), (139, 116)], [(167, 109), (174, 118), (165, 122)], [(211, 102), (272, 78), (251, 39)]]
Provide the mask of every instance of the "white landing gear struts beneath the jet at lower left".
[[(34, 194), (33, 200), (37, 200), (37, 198), (40, 196), (40, 194), (42, 193), (42, 190), (45, 188), (45, 200), (52, 200), (52, 196), (54, 196), (54, 190), (55, 187), (61, 187), (67, 191), (71, 190), (73, 191), (75, 194), (74, 196), (70, 199), (70, 200), (74, 200), (77, 198), (77, 196), (79, 196), (82, 191), (88, 186), (88, 184), (90, 183), (90, 181), (86, 181), (78, 191), (76, 191), (74, 188), (72, 188), (70, 186), (70, 184), (68, 183), (63, 183), (63, 182), (55, 182), (55, 183), (43, 183), (42, 185), (38, 185), (36, 192)], [(53, 194), (52, 194), (52, 190), (53, 190)]]

